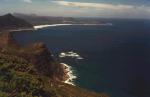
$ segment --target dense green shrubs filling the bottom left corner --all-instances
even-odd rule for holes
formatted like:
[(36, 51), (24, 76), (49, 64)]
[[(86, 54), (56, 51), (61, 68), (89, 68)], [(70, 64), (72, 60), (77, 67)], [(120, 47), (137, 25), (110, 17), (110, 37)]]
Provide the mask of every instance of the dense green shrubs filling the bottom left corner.
[(1, 56), (0, 97), (48, 97), (40, 78), (28, 73), (32, 65), (21, 58)]

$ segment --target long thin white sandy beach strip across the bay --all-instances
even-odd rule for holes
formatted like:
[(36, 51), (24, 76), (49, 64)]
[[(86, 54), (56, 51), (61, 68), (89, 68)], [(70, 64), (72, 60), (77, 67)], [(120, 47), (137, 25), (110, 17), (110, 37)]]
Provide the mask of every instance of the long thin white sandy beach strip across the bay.
[(112, 23), (103, 23), (103, 24), (51, 24), (51, 25), (37, 25), (34, 26), (35, 30), (47, 28), (47, 27), (55, 27), (55, 26), (70, 26), (70, 25), (83, 25), (83, 26), (96, 26), (96, 25), (103, 25), (103, 26), (112, 26)]

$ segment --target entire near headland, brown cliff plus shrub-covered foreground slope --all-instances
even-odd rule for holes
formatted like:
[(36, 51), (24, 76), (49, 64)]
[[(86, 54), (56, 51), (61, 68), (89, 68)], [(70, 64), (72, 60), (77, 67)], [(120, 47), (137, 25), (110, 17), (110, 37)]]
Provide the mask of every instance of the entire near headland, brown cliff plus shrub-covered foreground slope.
[(46, 45), (21, 47), (13, 33), (0, 34), (0, 97), (108, 97), (65, 84), (65, 78)]

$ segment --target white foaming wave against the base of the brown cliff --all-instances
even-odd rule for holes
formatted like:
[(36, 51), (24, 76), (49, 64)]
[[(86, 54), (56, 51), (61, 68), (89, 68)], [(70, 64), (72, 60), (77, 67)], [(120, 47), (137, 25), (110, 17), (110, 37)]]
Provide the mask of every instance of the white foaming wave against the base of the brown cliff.
[(77, 76), (75, 76), (72, 67), (69, 66), (69, 65), (67, 65), (67, 64), (65, 64), (65, 63), (60, 63), (60, 64), (62, 64), (62, 65), (64, 65), (65, 67), (67, 67), (66, 70), (68, 71), (67, 74), (68, 74), (69, 78), (68, 78), (66, 81), (64, 81), (64, 83), (67, 83), (67, 84), (70, 84), (70, 85), (74, 85), (74, 86), (75, 86), (75, 84), (73, 83), (73, 80), (76, 79)]

